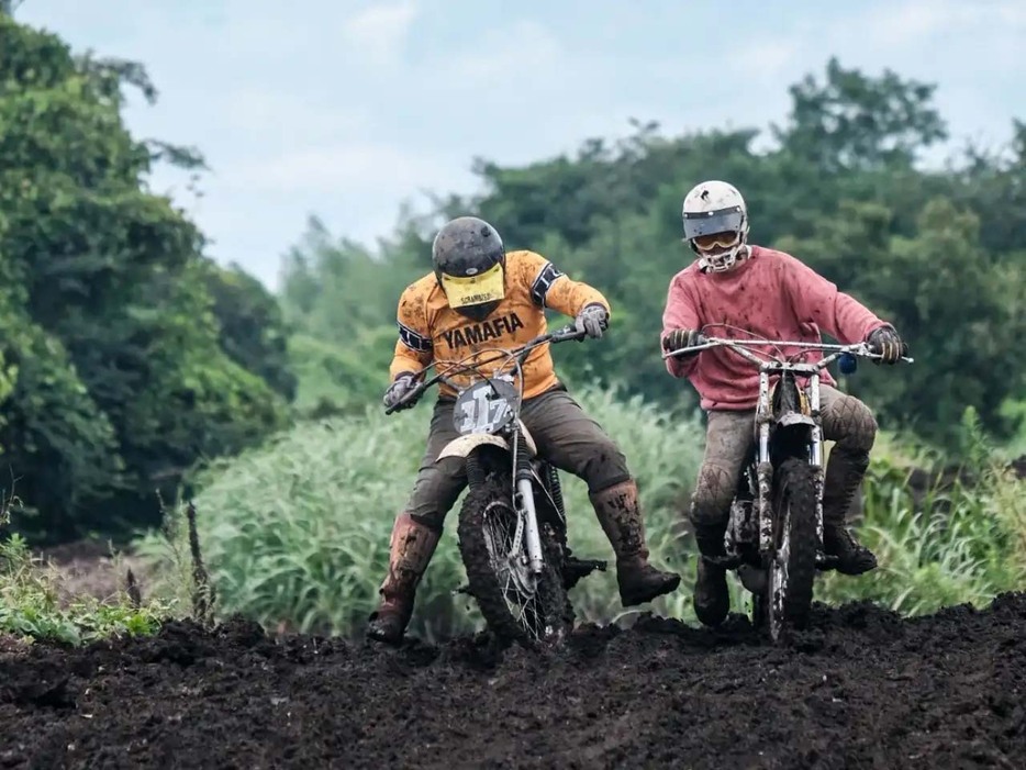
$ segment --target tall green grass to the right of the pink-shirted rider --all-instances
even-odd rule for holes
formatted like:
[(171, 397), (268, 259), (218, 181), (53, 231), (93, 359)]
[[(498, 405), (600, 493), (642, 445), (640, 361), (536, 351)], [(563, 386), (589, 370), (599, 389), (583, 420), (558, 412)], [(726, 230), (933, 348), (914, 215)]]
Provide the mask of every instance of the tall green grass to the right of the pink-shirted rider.
[(935, 468), (922, 491), (910, 484), (915, 468), (893, 447), (876, 457), (860, 532), (880, 566), (855, 580), (828, 576), (821, 600), (872, 599), (915, 615), (1026, 588), (1026, 481), (999, 459), (971, 409), (962, 435), (959, 470), (968, 478), (945, 481), (944, 458), (919, 451), (915, 467)]

